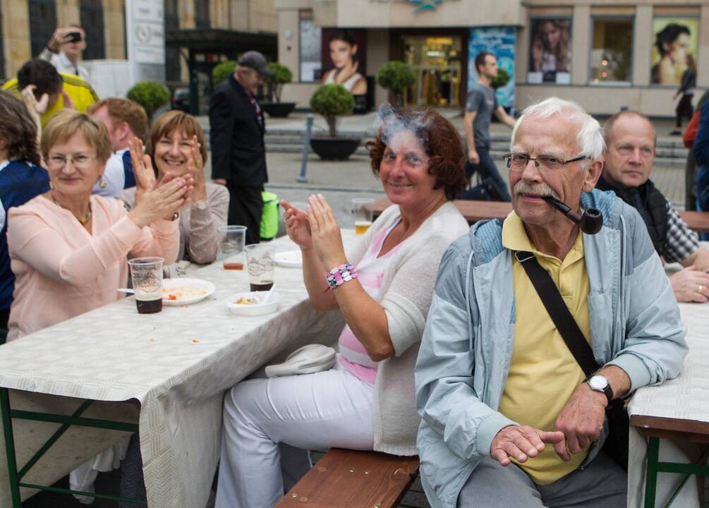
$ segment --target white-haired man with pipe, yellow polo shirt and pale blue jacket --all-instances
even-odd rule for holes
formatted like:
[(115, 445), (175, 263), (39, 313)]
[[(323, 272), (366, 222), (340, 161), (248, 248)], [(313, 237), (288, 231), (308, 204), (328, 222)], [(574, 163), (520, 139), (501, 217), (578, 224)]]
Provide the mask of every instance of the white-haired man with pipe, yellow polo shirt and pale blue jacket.
[[(527, 108), (507, 158), (513, 211), (476, 223), (443, 255), (415, 367), (433, 508), (626, 506), (627, 476), (601, 450), (605, 407), (679, 375), (686, 329), (640, 214), (593, 188), (603, 148), (578, 104)], [(582, 233), (545, 196), (600, 210), (601, 231)], [(593, 351), (593, 375), (527, 277), (531, 258)]]

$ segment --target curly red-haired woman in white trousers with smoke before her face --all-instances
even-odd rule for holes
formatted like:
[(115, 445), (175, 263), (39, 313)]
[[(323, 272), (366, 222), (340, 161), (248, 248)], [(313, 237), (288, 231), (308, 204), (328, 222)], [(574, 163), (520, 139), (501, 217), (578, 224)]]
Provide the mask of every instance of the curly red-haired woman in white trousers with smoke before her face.
[(228, 392), (217, 508), (278, 502), (279, 443), (416, 453), (413, 367), (440, 257), (468, 231), (450, 202), (465, 184), (464, 154), (455, 128), (434, 111), (391, 112), (368, 146), (394, 206), (349, 255), (322, 196), (311, 196), (307, 211), (283, 202), (313, 307), (340, 309), (347, 326), (334, 368), (247, 380)]

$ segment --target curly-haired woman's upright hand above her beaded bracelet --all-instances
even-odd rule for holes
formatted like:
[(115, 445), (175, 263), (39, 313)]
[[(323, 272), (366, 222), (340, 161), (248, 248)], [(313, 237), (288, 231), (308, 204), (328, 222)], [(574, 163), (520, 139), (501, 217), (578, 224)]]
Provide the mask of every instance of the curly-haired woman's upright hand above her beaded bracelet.
[(347, 258), (345, 258), (345, 247), (342, 245), (340, 226), (337, 224), (333, 209), (322, 194), (313, 194), (308, 198), (308, 224), (313, 238), (313, 247), (325, 269), (330, 270), (345, 263)]

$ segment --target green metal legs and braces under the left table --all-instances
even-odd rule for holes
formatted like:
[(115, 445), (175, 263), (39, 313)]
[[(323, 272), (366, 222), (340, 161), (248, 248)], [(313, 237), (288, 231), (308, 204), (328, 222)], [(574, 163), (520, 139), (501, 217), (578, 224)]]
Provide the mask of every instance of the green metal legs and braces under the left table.
[[(20, 498), (20, 487), (35, 490), (47, 490), (49, 492), (60, 492), (67, 495), (83, 495), (97, 497), (99, 499), (110, 499), (111, 501), (123, 501), (135, 504), (145, 504), (145, 500), (128, 499), (125, 497), (111, 496), (105, 494), (96, 494), (95, 492), (83, 492), (81, 490), (62, 489), (59, 487), (47, 487), (45, 485), (34, 485), (32, 483), (22, 482), (22, 478), (35, 465), (42, 456), (52, 447), (54, 443), (69, 429), (70, 426), (94, 427), (96, 429), (108, 429), (113, 431), (124, 431), (135, 433), (138, 432), (138, 424), (129, 424), (124, 421), (111, 421), (95, 418), (84, 418), (81, 416), (88, 409), (93, 400), (85, 400), (71, 415), (40, 413), (33, 411), (21, 411), (11, 409), (9, 389), (0, 387), (0, 413), (2, 416), (2, 424), (5, 437), (5, 453), (7, 455), (7, 470), (9, 476), (10, 496), (12, 499), (13, 508), (21, 508), (22, 502)], [(59, 429), (43, 444), (43, 446), (35, 453), (27, 463), (18, 470), (17, 458), (15, 453), (15, 439), (12, 431), (12, 419), (32, 420), (32, 421), (48, 421), (55, 424), (61, 424)]]

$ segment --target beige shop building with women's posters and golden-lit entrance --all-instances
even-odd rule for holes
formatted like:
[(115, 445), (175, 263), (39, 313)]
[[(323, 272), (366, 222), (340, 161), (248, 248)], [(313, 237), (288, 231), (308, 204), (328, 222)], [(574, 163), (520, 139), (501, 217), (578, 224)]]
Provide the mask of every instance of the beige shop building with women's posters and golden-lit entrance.
[[(672, 116), (686, 70), (709, 87), (707, 0), (277, 0), (276, 10), (279, 61), (294, 70), (284, 100), (301, 106), (353, 68), (380, 104), (377, 70), (403, 60), (417, 74), (406, 104), (460, 108), (481, 50), (510, 76), (498, 89), (510, 109), (556, 95), (593, 114)], [(350, 60), (335, 62), (342, 48)]]

